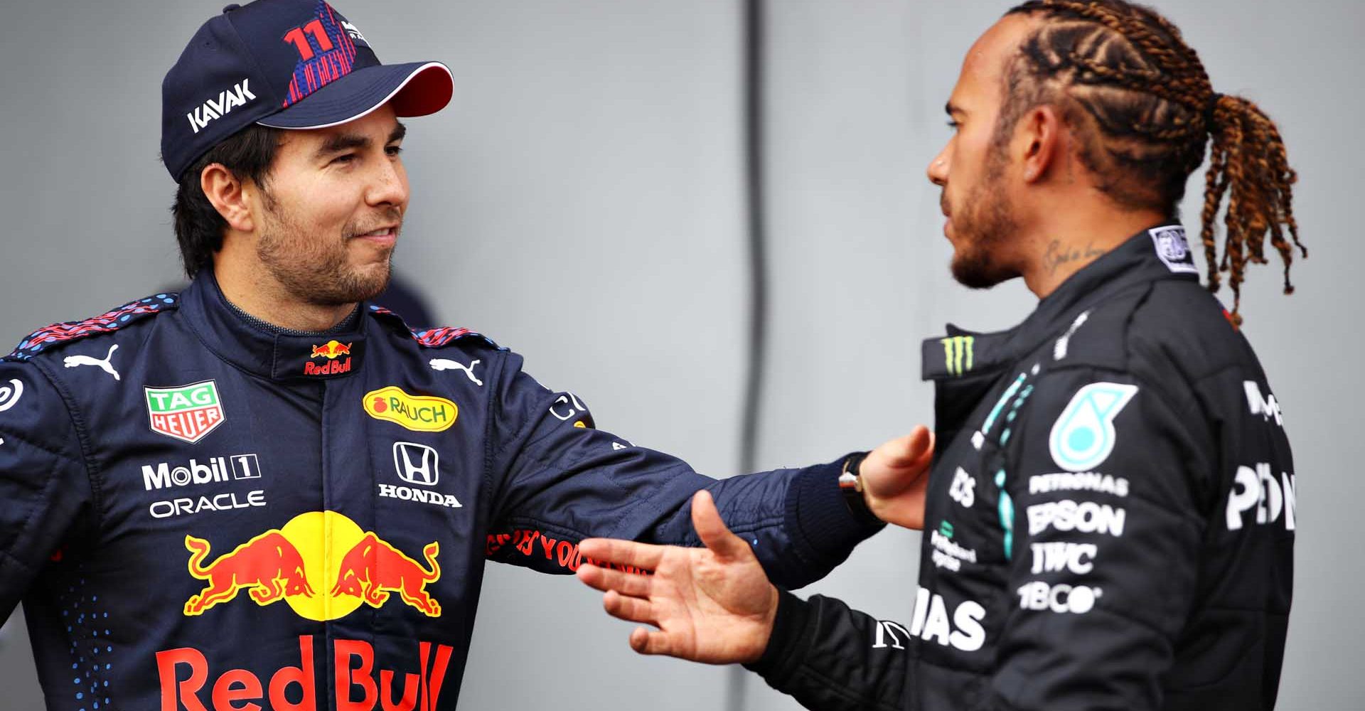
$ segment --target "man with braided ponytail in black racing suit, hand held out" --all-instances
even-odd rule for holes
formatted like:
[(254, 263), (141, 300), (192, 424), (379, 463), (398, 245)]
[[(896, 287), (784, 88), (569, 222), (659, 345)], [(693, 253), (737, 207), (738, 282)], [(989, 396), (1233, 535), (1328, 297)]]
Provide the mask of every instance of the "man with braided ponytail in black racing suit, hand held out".
[(1211, 285), (1224, 191), (1234, 292), (1267, 236), (1287, 272), (1294, 173), (1275, 124), (1122, 0), (1011, 10), (946, 109), (928, 177), (953, 274), (1022, 277), (1040, 300), (1014, 329), (924, 344), (939, 448), (909, 618), (779, 592), (703, 508), (708, 549), (586, 540), (655, 575), (579, 577), (659, 626), (632, 633), (637, 651), (744, 662), (809, 708), (1274, 707), (1294, 463), (1237, 300), (1224, 313), (1200, 285), (1173, 216), (1211, 143)]

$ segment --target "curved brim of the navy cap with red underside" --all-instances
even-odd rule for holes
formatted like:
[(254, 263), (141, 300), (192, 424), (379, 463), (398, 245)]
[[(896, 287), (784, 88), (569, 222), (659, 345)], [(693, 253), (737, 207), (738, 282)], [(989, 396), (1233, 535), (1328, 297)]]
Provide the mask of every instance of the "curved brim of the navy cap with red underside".
[(440, 61), (364, 67), (258, 120), (274, 128), (326, 128), (392, 104), (399, 116), (426, 116), (450, 102), (455, 79)]

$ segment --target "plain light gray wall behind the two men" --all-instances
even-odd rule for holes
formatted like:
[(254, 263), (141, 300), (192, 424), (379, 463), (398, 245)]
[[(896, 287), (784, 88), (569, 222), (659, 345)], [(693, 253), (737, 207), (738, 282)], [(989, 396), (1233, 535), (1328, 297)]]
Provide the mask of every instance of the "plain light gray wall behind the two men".
[[(101, 313), (177, 278), (157, 161), (161, 75), (221, 3), (5, 0), (0, 14), (0, 334)], [(931, 419), (920, 338), (1006, 328), (1021, 284), (954, 285), (924, 165), (972, 40), (1006, 3), (771, 0), (773, 344), (759, 465), (829, 460)], [(1279, 120), (1313, 258), (1299, 291), (1246, 285), (1246, 333), (1299, 474), (1282, 708), (1365, 706), (1355, 550), (1365, 352), (1355, 235), (1365, 115), (1354, 0), (1167, 0), (1224, 93)], [(349, 0), (379, 56), (438, 59), (456, 101), (410, 123), (399, 267), (442, 321), (527, 356), (599, 426), (732, 474), (745, 270), (736, 0)], [(1192, 195), (1203, 180), (1194, 176)], [(1192, 210), (1193, 212), (1193, 210)], [(886, 531), (804, 592), (910, 611), (917, 534)], [(22, 625), (0, 635), (0, 708), (41, 708)], [(566, 577), (490, 566), (463, 708), (722, 708), (729, 673), (640, 658), (631, 625)], [(758, 680), (747, 710), (796, 706)]]

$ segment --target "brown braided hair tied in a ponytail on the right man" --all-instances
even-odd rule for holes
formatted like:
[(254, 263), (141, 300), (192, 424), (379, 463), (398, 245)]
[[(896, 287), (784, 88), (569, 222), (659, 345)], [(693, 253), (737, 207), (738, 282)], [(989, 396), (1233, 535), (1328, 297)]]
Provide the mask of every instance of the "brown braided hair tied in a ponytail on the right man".
[[(1081, 162), (1099, 190), (1119, 205), (1175, 214), (1185, 182), (1213, 138), (1205, 173), (1203, 229), (1208, 289), (1220, 272), (1233, 287), (1241, 325), (1246, 262), (1267, 263), (1265, 235), (1284, 263), (1284, 293), (1298, 240), (1290, 207), (1297, 175), (1275, 123), (1252, 101), (1213, 91), (1198, 55), (1155, 10), (1125, 0), (1029, 0), (1006, 15), (1047, 19), (1021, 45), (1005, 72), (999, 128), (1011, 130), (1031, 108), (1055, 105), (1078, 135)], [(1087, 130), (1088, 128), (1088, 130)], [(996, 131), (1007, 141), (1009, 131)], [(1213, 240), (1219, 205), (1222, 261)], [(1286, 233), (1289, 239), (1286, 239)], [(1290, 244), (1293, 240), (1293, 244)]]

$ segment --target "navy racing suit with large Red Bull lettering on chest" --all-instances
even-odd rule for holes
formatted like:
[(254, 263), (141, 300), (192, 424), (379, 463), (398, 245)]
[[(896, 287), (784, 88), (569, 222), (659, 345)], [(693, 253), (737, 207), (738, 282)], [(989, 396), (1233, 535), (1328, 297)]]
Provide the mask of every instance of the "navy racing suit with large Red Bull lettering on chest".
[(708, 489), (803, 585), (876, 531), (837, 478), (714, 480), (479, 334), (280, 332), (205, 272), (0, 360), (0, 620), (22, 598), (53, 711), (450, 710), (486, 560), (699, 545)]

